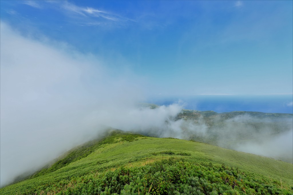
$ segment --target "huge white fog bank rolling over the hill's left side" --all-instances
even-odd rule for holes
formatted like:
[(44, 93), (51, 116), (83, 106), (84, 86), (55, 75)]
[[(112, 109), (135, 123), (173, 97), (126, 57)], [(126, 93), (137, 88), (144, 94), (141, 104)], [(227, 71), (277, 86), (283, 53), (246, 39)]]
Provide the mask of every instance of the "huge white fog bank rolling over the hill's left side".
[(2, 21), (0, 32), (1, 187), (97, 137), (105, 130), (100, 125), (181, 139), (204, 138), (210, 132), (232, 139), (243, 129), (254, 130), (247, 125), (252, 118), (229, 119), (217, 128), (202, 117), (196, 122), (179, 119), (181, 102), (156, 109), (137, 106), (148, 94), (146, 81), (137, 75), (123, 68), (114, 71), (107, 62), (63, 44), (22, 36)]

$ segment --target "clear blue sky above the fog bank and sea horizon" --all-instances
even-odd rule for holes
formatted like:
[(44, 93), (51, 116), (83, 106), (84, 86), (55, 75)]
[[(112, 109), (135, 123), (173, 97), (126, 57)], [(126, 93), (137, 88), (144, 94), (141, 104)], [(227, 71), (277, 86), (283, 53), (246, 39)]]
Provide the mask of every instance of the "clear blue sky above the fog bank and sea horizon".
[(293, 91), (293, 1), (0, 2), (13, 30), (129, 71), (149, 94)]

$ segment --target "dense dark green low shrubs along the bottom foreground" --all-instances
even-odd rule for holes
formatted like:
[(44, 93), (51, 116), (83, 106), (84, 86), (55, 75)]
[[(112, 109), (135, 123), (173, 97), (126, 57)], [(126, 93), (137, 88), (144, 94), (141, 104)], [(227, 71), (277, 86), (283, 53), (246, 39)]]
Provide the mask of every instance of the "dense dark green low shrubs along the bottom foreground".
[(25, 194), (292, 194), (233, 168), (165, 159), (140, 167), (120, 167), (40, 186)]

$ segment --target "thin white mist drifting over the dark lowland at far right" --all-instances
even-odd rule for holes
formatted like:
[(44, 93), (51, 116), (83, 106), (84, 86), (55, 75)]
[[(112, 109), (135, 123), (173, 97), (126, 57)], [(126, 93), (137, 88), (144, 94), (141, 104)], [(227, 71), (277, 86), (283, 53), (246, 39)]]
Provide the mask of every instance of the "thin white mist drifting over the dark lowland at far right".
[(218, 145), (293, 163), (293, 119), (239, 115), (212, 127)]

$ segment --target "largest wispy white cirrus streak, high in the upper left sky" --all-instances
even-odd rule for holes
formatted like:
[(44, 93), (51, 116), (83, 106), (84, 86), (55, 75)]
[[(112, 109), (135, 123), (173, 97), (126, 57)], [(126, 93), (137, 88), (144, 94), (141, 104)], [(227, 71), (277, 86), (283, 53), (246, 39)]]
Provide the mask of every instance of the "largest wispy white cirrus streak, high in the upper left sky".
[(69, 18), (74, 18), (75, 22), (82, 26), (103, 25), (105, 23), (124, 24), (127, 21), (135, 21), (113, 12), (92, 7), (77, 6), (69, 1), (24, 1), (23, 4), (38, 9), (44, 7), (54, 9)]

